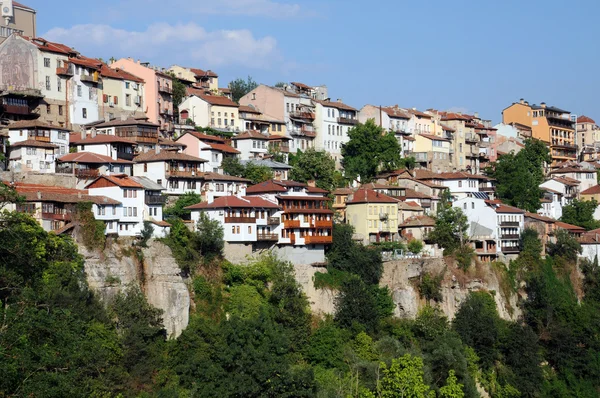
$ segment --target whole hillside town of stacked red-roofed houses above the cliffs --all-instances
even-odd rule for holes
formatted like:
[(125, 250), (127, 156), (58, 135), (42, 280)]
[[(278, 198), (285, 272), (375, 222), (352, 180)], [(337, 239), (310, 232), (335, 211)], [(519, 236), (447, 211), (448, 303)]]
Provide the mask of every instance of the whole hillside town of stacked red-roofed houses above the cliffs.
[[(12, 7), (35, 19), (29, 7)], [(105, 61), (37, 37), (35, 22), (9, 21), (0, 33), (2, 179), (24, 198), (13, 210), (47, 231), (70, 233), (76, 205), (91, 202), (106, 235), (140, 236), (150, 222), (153, 236), (165, 237), (163, 207), (195, 193), (201, 202), (188, 207), (189, 228), (202, 213), (218, 220), (230, 259), (270, 249), (294, 264), (323, 263), (334, 220), (352, 225), (363, 244), (418, 240), (419, 255), (441, 257), (429, 237), (448, 195), (468, 218), (481, 262), (516, 258), (526, 228), (543, 242), (565, 230), (583, 256), (598, 252), (599, 230), (561, 221), (574, 200), (600, 197), (600, 128), (588, 116), (525, 99), (487, 116), (501, 117), (498, 124), (410, 104), (355, 108), (326, 85), (300, 82), (259, 84), (235, 98), (202, 65)], [(332, 191), (289, 178), (290, 158), (310, 149), (325, 152), (343, 175), (349, 132), (369, 122), (393, 135), (400, 157), (414, 164), (382, 169), (371, 181), (347, 179)], [(503, 202), (487, 173), (528, 140), (542, 142), (551, 157), (535, 212)], [(272, 178), (228, 174), (223, 165), (232, 159), (267, 167)]]

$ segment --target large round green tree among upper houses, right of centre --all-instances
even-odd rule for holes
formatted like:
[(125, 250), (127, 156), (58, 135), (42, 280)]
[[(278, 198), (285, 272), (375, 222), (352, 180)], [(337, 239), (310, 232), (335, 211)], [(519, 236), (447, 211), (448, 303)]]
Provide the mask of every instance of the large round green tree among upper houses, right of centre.
[(342, 165), (346, 176), (366, 183), (379, 171), (398, 168), (400, 144), (393, 133), (386, 133), (372, 119), (348, 131), (349, 141), (342, 145)]

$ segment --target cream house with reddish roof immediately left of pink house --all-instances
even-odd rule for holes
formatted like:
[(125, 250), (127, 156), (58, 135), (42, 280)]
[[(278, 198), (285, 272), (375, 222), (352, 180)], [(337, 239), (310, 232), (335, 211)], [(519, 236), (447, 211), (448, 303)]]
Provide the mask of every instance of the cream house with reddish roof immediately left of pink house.
[(101, 63), (102, 86), (98, 89), (99, 119), (143, 118), (146, 85), (141, 79), (119, 68)]

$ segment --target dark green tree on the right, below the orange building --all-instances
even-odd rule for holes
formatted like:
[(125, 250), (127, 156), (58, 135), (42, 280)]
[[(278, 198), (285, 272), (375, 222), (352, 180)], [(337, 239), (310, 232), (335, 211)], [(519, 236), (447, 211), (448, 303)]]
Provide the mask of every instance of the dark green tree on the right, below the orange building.
[(525, 140), (525, 148), (516, 155), (502, 155), (487, 169), (496, 179), (496, 193), (505, 203), (535, 213), (540, 208), (544, 182), (544, 165), (551, 162), (550, 152), (542, 141)]

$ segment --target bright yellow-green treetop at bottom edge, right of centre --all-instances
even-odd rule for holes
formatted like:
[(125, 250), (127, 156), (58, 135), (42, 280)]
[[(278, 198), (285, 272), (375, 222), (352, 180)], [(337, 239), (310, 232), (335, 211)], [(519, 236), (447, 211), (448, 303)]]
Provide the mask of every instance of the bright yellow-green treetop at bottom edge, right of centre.
[(389, 368), (381, 363), (380, 369), (382, 377), (377, 388), (380, 397), (435, 397), (435, 392), (425, 384), (421, 357), (406, 354), (393, 359)]

